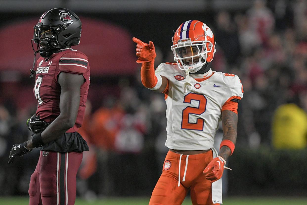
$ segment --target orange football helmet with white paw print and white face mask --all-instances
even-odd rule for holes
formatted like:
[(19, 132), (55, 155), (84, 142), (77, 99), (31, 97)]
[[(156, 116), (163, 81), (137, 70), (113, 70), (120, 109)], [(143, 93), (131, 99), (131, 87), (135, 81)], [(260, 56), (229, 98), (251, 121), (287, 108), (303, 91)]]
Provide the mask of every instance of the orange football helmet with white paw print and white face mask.
[(195, 73), (213, 59), (214, 35), (203, 22), (197, 20), (183, 22), (174, 33), (172, 41), (174, 60), (182, 70)]

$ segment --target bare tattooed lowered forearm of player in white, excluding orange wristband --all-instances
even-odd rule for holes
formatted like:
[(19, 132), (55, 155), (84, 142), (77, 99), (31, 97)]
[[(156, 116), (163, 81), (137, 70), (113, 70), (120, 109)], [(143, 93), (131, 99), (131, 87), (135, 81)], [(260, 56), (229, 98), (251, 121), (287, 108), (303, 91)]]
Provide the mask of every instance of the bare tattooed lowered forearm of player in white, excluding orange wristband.
[[(222, 124), (223, 124), (223, 140), (230, 140), (235, 144), (237, 140), (237, 124), (238, 114), (230, 110), (222, 111)], [(231, 150), (227, 146), (223, 146), (220, 149), (219, 156), (225, 160), (231, 155)]]

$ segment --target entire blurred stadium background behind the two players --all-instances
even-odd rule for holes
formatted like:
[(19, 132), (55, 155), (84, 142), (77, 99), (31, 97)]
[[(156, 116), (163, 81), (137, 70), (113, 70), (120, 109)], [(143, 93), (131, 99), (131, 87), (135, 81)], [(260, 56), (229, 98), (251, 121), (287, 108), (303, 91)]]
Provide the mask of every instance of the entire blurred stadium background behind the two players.
[[(29, 78), (33, 26), (64, 7), (83, 22), (76, 47), (91, 65), (88, 115), (80, 130), (90, 145), (78, 174), (79, 204), (146, 204), (167, 152), (163, 94), (144, 88), (132, 37), (153, 41), (173, 62), (173, 30), (186, 20), (213, 31), (212, 70), (239, 75), (236, 150), (225, 172), (224, 204), (307, 203), (307, 1), (0, 1), (0, 204), (27, 204), (38, 151), (7, 165), (12, 144), (30, 137), (36, 109)], [(216, 145), (222, 130), (216, 133)], [(185, 204), (191, 204), (186, 200)]]

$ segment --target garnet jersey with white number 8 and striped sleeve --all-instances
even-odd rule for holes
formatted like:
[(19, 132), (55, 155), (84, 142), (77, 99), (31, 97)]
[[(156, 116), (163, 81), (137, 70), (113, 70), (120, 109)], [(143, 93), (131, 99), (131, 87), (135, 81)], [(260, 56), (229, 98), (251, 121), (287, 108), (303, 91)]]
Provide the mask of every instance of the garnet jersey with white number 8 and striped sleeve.
[(83, 75), (84, 83), (80, 88), (80, 106), (74, 127), (67, 132), (76, 132), (82, 125), (88, 87), (90, 85), (90, 66), (87, 56), (74, 49), (61, 49), (50, 58), (37, 60), (34, 95), (38, 101), (36, 115), (51, 123), (60, 115), (61, 86), (58, 77), (61, 72)]

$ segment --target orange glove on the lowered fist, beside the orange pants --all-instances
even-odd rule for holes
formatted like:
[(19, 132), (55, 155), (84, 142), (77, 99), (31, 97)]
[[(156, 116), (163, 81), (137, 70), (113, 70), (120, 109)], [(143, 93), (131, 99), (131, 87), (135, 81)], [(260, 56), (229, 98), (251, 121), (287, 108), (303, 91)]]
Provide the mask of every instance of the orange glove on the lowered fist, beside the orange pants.
[(230, 169), (225, 167), (225, 165), (226, 161), (223, 157), (217, 156), (214, 158), (203, 171), (203, 173), (206, 175), (206, 179), (210, 180), (211, 183), (219, 180), (223, 175), (224, 169)]

